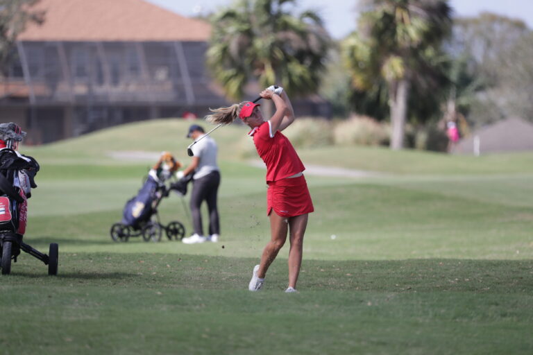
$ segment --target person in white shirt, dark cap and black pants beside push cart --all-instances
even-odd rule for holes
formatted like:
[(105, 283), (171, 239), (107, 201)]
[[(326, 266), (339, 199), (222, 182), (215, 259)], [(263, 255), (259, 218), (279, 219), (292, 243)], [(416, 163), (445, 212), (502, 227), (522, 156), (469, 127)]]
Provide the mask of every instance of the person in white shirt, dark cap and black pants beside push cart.
[[(191, 125), (187, 138), (194, 141), (205, 135), (200, 125)], [(183, 171), (184, 175), (193, 175), (191, 193), (191, 215), (194, 234), (182, 239), (183, 243), (217, 242), (220, 234), (219, 210), (217, 208), (217, 194), (220, 185), (220, 171), (217, 165), (217, 144), (210, 136), (203, 137), (192, 147), (194, 156), (192, 162)], [(209, 234), (204, 236), (200, 206), (205, 201), (208, 204)]]

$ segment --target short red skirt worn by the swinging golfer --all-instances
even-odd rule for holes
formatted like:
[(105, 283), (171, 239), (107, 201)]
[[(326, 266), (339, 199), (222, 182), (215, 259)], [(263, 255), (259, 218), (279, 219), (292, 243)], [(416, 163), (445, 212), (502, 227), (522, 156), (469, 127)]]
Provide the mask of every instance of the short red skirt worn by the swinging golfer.
[(269, 181), (267, 190), (267, 216), (272, 209), (285, 218), (309, 214), (314, 211), (307, 182), (303, 175), (298, 178)]

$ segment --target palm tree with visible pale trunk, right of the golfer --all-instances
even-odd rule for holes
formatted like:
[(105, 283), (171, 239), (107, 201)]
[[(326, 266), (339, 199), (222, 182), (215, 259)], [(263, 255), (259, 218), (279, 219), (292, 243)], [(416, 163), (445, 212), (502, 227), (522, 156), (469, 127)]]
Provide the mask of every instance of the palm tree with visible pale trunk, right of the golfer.
[(361, 0), (359, 31), (344, 42), (344, 58), (355, 89), (386, 83), (391, 148), (403, 148), (407, 103), (412, 85), (431, 87), (442, 80), (441, 42), (450, 33), (448, 0)]

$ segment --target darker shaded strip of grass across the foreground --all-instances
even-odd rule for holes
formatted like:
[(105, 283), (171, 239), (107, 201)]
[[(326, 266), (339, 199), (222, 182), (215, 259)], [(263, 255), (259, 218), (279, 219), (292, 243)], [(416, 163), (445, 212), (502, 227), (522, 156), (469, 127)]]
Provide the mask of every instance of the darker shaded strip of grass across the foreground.
[[(1, 278), (3, 354), (530, 354), (533, 262), (62, 254)], [(41, 269), (41, 270), (40, 270)], [(65, 270), (67, 269), (67, 270)], [(295, 341), (296, 340), (296, 341)], [(450, 341), (452, 340), (452, 341)], [(22, 352), (21, 352), (22, 350)]]

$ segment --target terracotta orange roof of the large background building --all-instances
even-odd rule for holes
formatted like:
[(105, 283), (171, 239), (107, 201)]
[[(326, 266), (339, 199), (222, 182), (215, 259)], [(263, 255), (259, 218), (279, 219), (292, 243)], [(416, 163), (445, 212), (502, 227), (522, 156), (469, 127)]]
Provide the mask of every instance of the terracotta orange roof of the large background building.
[(143, 0), (41, 0), (42, 26), (23, 41), (206, 41), (211, 26)]

